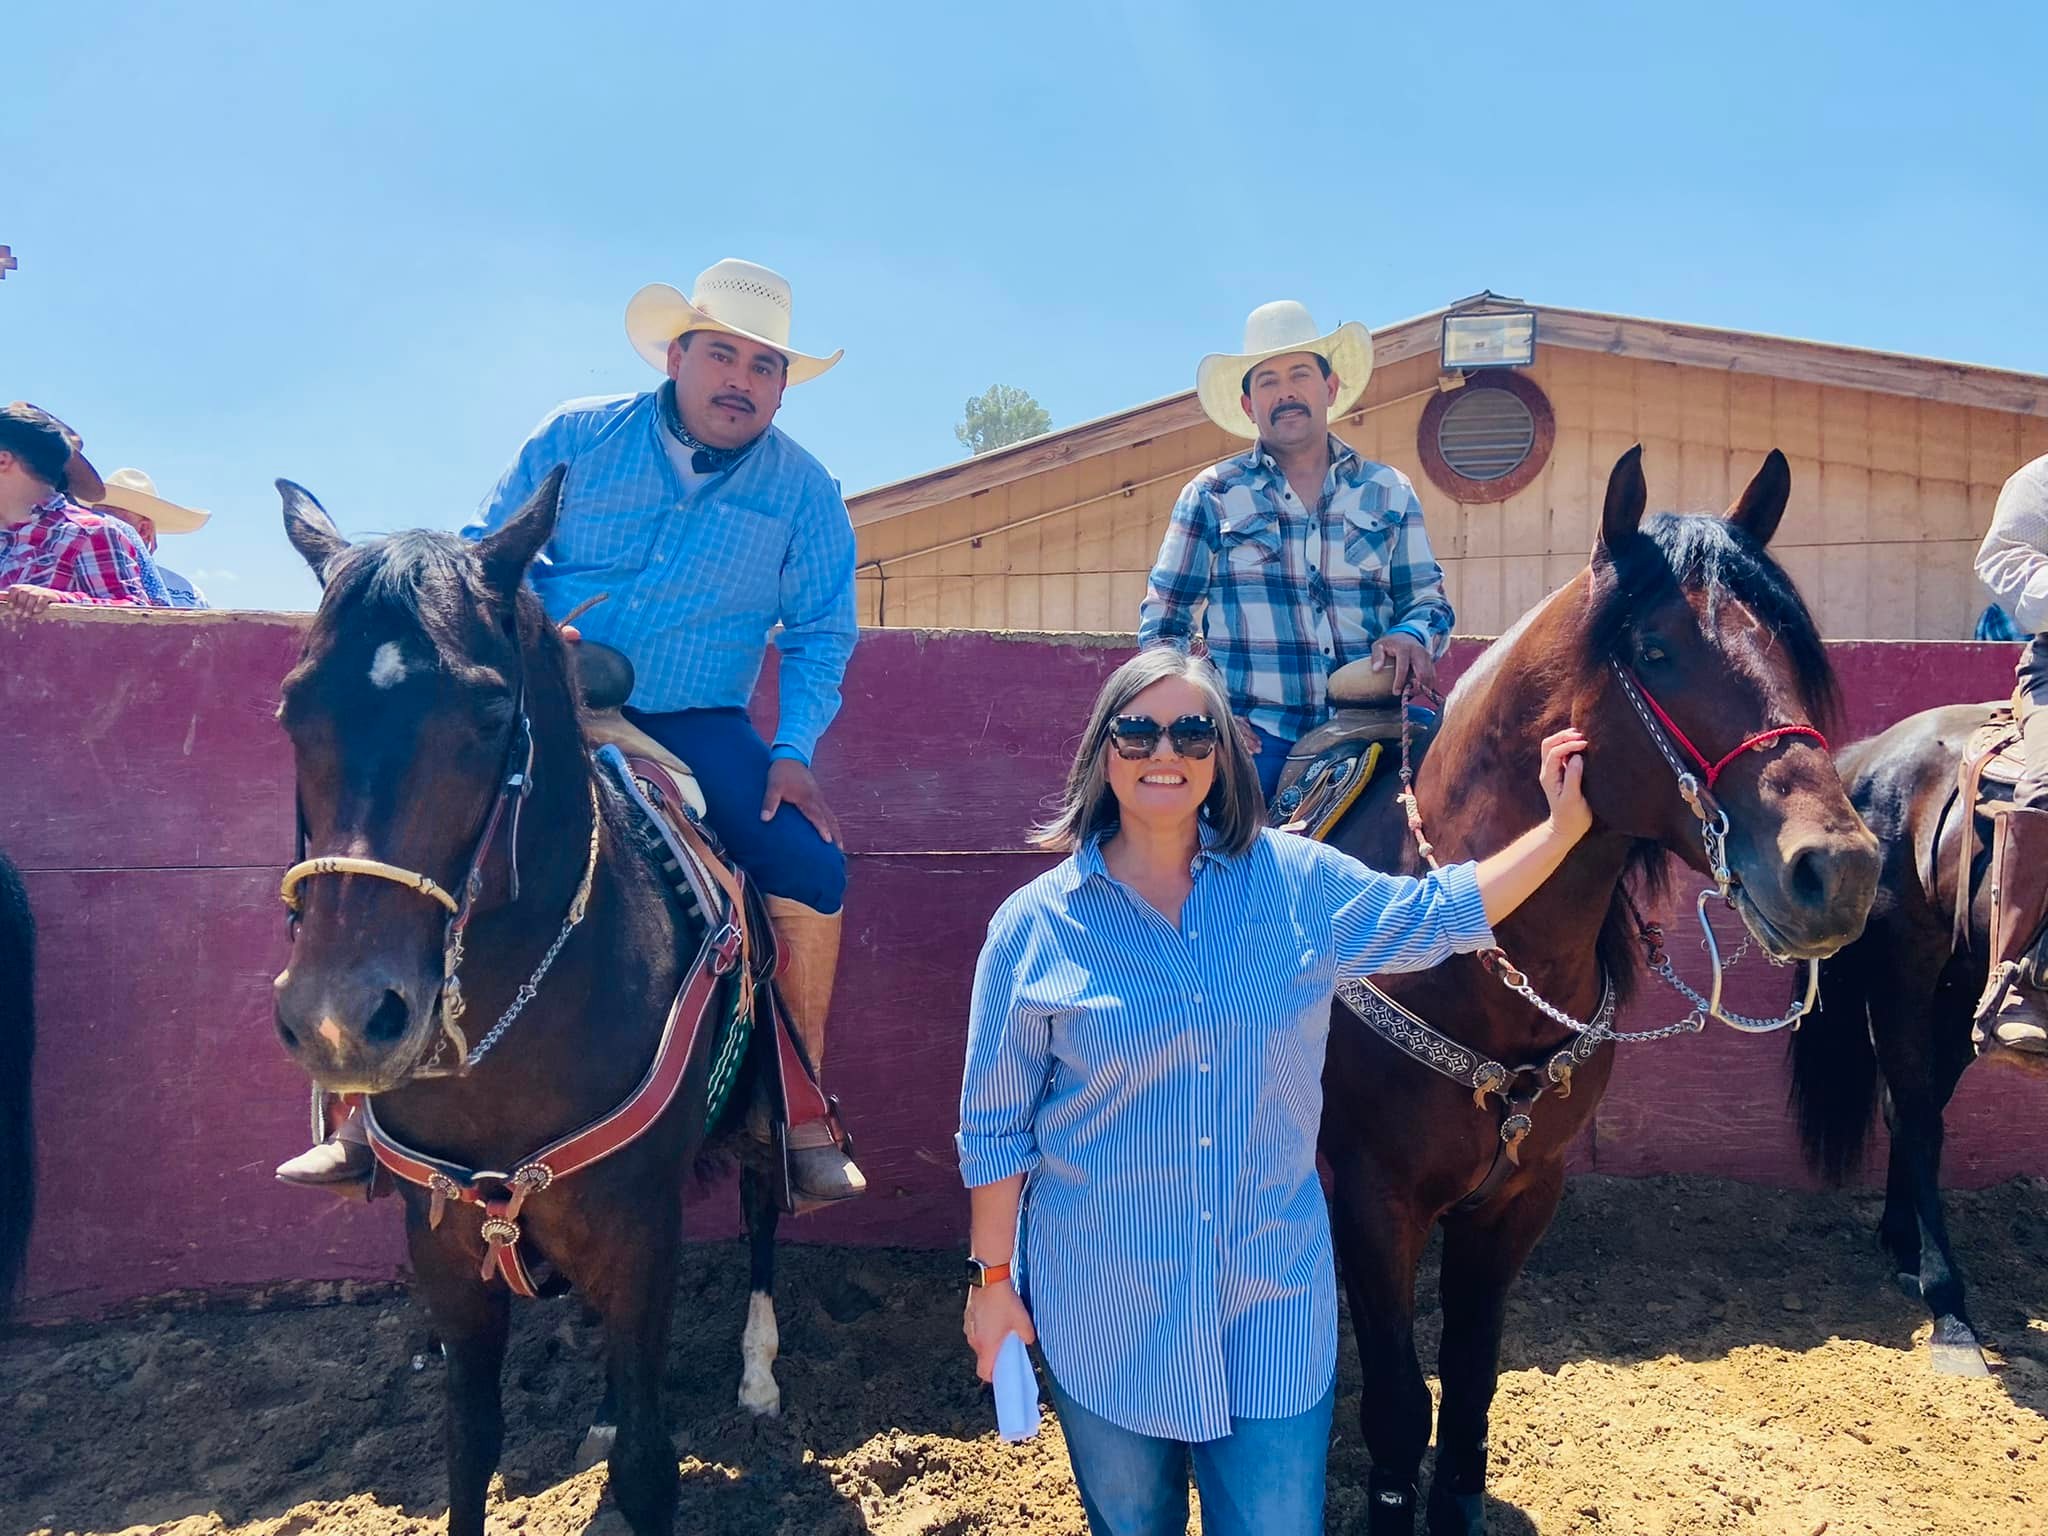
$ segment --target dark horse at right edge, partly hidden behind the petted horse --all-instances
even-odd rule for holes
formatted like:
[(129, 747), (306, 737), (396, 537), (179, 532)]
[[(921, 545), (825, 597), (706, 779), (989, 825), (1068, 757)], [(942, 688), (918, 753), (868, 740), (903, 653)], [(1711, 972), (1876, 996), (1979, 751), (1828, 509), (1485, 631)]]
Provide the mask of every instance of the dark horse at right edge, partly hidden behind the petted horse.
[[(1991, 969), (1991, 827), (1982, 817), (1968, 874), (1970, 942), (1956, 948), (1956, 887), (1966, 879), (1960, 844), (1972, 817), (1972, 807), (1956, 803), (1956, 774), (1991, 711), (1929, 709), (1839, 754), (1849, 801), (1884, 846), (1884, 874), (1870, 926), (1821, 967), (1821, 1010), (1792, 1036), (1800, 1139), (1825, 1178), (1841, 1182), (1862, 1167), (1882, 1087), (1892, 1147), (1878, 1241), (1898, 1284), (1933, 1317), (1935, 1370), (1964, 1376), (1987, 1368), (1942, 1214), (1942, 1114), (1974, 1061), (1970, 1016)], [(2030, 1065), (2017, 1051), (1991, 1055)]]

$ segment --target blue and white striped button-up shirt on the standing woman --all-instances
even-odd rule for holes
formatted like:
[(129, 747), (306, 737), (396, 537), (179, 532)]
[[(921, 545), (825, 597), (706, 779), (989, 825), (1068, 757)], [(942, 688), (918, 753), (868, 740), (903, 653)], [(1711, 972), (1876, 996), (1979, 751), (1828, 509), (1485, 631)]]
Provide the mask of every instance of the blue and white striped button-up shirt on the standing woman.
[(1380, 874), (1278, 831), (1204, 846), (1180, 930), (1098, 844), (997, 909), (961, 1176), (1028, 1176), (1020, 1284), (1081, 1407), (1190, 1442), (1315, 1407), (1337, 1366), (1315, 1174), (1331, 995), (1491, 942), (1473, 864)]

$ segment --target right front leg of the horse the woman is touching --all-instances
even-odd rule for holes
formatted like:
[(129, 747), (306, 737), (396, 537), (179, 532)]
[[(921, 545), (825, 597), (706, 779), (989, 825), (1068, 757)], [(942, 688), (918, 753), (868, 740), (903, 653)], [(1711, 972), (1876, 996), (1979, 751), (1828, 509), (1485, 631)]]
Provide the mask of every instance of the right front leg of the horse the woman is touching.
[(1501, 1374), (1507, 1292), (1565, 1192), (1565, 1165), (1534, 1169), (1528, 1188), (1444, 1219), (1444, 1343), (1438, 1376), (1436, 1477), (1430, 1536), (1487, 1532), (1487, 1415)]

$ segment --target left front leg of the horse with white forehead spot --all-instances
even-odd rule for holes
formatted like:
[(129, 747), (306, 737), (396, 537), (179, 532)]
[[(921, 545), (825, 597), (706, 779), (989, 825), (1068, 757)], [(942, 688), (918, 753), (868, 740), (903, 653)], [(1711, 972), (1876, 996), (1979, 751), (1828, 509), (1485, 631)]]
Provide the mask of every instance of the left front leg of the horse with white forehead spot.
[(504, 1450), (500, 1374), (512, 1307), (504, 1286), (477, 1280), (473, 1260), (408, 1223), (412, 1268), (449, 1360), (449, 1536), (483, 1536), (483, 1499)]

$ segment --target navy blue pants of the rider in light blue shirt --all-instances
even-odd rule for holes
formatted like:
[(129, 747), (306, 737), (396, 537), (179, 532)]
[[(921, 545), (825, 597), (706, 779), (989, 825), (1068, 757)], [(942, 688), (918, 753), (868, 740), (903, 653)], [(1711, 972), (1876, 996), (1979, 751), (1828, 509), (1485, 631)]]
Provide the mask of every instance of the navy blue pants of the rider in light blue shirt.
[(690, 764), (705, 791), (705, 819), (764, 895), (825, 913), (846, 903), (846, 854), (823, 840), (811, 817), (784, 803), (772, 821), (762, 821), (768, 743), (743, 709), (680, 709), (670, 715), (629, 709), (627, 719)]

